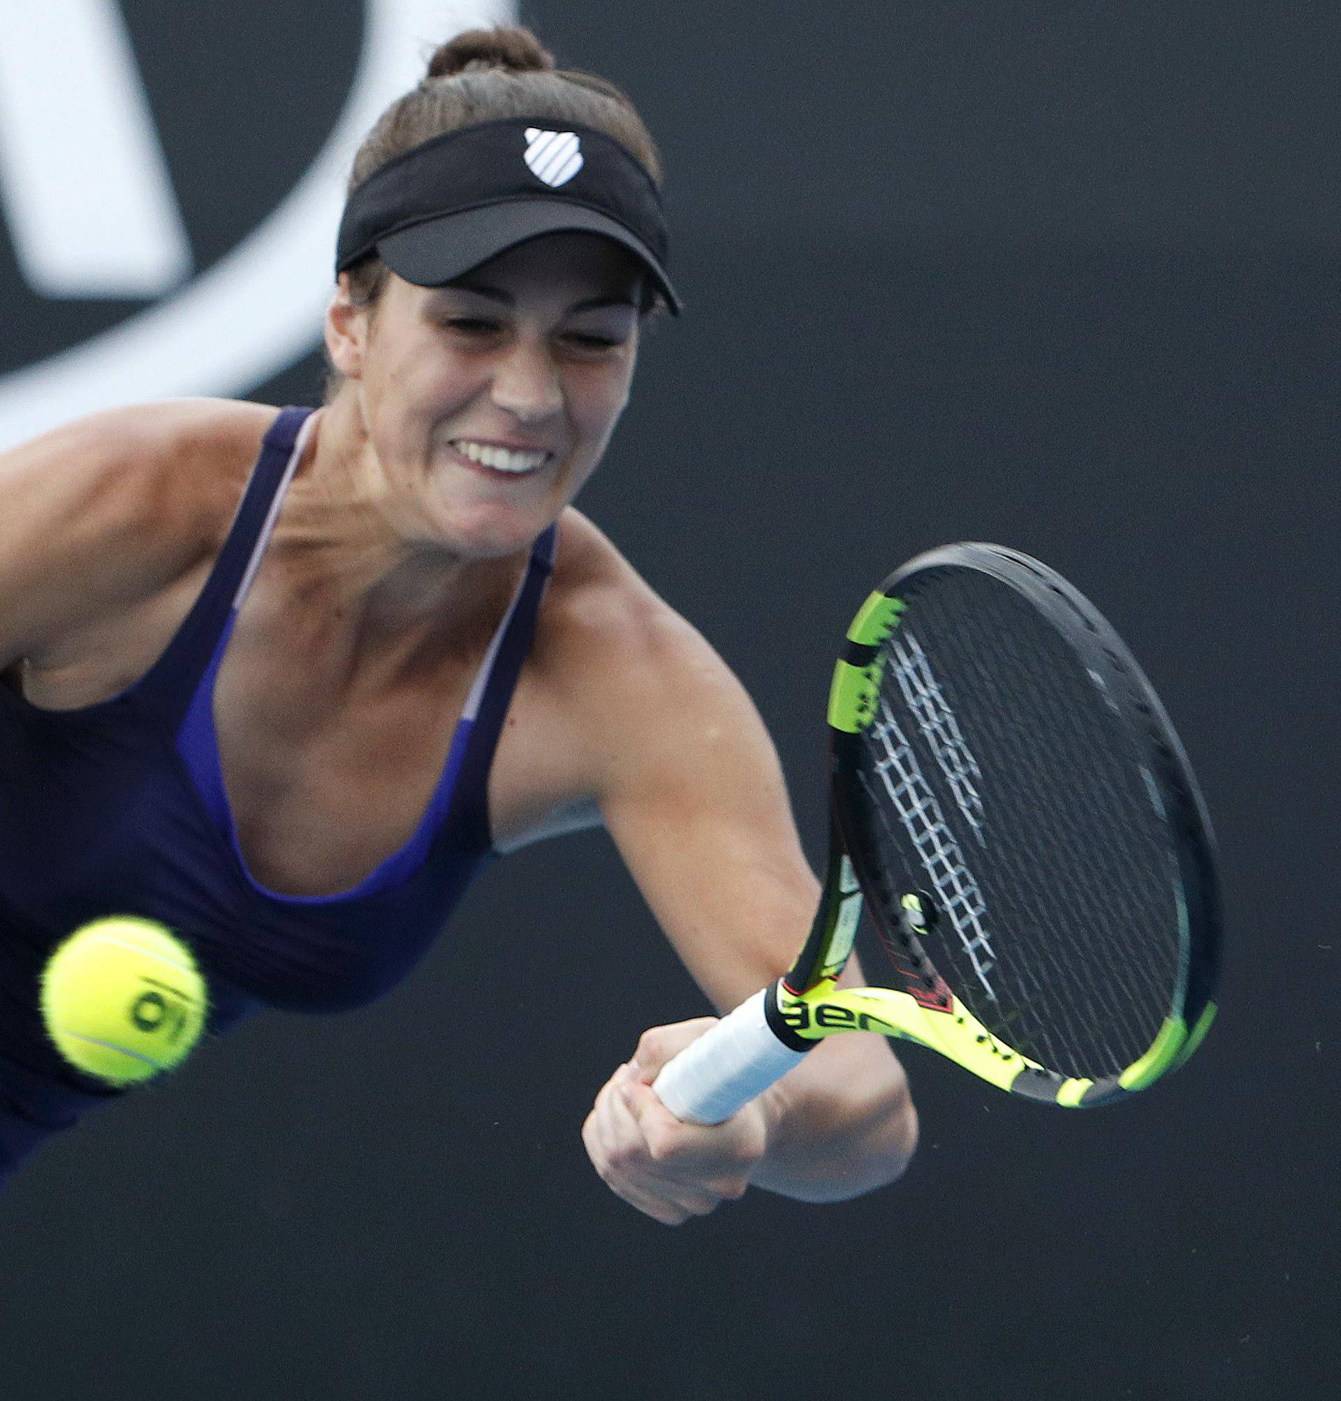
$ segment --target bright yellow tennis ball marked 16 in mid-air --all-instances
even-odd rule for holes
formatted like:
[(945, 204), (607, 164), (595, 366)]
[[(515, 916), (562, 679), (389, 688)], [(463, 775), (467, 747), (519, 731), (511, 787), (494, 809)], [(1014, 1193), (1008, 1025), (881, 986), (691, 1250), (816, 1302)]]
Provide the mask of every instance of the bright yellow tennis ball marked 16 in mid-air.
[(108, 1084), (179, 1065), (200, 1038), (207, 993), (164, 925), (109, 915), (83, 925), (42, 971), (42, 1017), (60, 1054)]

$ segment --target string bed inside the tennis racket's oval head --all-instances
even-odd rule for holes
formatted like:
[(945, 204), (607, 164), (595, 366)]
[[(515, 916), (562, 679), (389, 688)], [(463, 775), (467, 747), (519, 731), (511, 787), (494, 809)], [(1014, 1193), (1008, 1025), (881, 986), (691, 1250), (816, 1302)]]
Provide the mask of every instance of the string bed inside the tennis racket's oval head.
[(1065, 1075), (1117, 1073), (1159, 1031), (1181, 957), (1174, 859), (1132, 727), (1008, 586), (950, 570), (907, 602), (860, 765), (863, 825), (893, 881), (877, 922), (897, 941), (900, 895), (928, 890), (939, 918), (921, 941), (989, 1031)]

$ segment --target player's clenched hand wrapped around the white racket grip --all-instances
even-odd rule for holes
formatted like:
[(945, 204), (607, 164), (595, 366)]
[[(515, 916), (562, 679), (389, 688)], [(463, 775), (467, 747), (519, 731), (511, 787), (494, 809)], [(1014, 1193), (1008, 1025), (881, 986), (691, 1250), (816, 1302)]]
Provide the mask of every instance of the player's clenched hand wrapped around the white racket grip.
[(661, 1066), (716, 1017), (645, 1031), (633, 1059), (601, 1087), (582, 1126), (587, 1156), (603, 1181), (631, 1206), (666, 1226), (706, 1216), (743, 1196), (768, 1145), (761, 1101), (724, 1124), (681, 1124), (652, 1090)]

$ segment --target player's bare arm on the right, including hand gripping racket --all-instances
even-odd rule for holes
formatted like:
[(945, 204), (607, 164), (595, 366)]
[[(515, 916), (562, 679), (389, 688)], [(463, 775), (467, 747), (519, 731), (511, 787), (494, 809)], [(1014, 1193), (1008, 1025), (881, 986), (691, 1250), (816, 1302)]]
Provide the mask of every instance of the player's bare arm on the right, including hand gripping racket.
[[(664, 605), (649, 597), (633, 612), (611, 629), (624, 660), (604, 667), (598, 797), (667, 937), (724, 1012), (786, 971), (818, 883), (772, 743), (740, 684)], [(845, 981), (859, 982), (858, 969)], [(597, 1098), (587, 1146), (621, 1195), (675, 1222), (747, 1182), (835, 1201), (900, 1175), (916, 1115), (898, 1061), (876, 1037), (821, 1044), (724, 1125), (678, 1124), (650, 1082), (709, 1024), (646, 1033), (636, 1069), (621, 1068)]]

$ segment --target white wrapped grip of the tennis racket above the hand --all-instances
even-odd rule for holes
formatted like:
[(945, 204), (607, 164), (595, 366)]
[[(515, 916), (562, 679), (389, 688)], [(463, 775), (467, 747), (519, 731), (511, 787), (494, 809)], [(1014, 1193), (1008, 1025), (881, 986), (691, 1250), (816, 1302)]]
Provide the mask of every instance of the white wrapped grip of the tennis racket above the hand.
[(764, 988), (668, 1061), (652, 1082), (657, 1098), (684, 1124), (720, 1124), (806, 1059), (768, 1024)]

